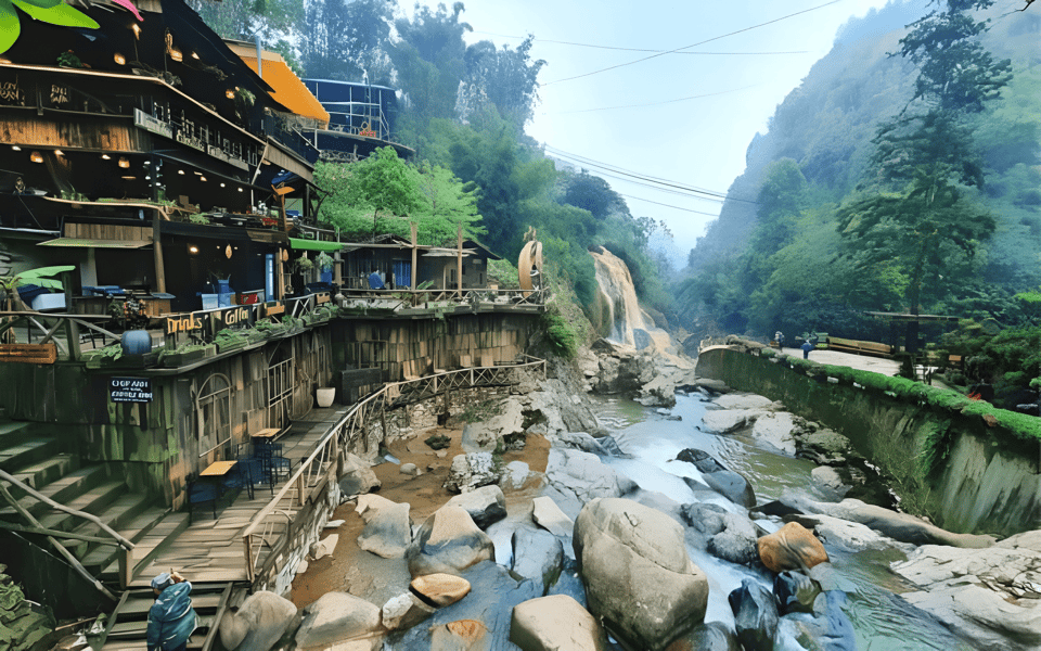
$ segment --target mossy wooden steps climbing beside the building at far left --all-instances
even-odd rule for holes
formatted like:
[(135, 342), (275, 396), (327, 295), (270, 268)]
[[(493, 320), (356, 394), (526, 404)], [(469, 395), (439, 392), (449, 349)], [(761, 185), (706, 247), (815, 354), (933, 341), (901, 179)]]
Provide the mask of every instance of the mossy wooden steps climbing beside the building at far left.
[[(188, 526), (187, 513), (156, 506), (147, 495), (131, 493), (123, 477), (111, 476), (103, 464), (82, 464), (78, 455), (64, 451), (53, 435), (55, 425), (0, 419), (0, 470), (48, 498), (98, 516), (134, 544), (134, 567), (144, 566), (167, 539)], [(98, 524), (59, 511), (28, 495), (21, 485), (8, 485), (18, 503), (39, 521), (83, 565), (88, 573), (120, 588), (121, 548)], [(13, 507), (0, 499), (0, 527), (33, 528)], [(31, 532), (29, 532), (31, 534)], [(24, 535), (24, 534), (23, 534)], [(41, 545), (47, 545), (40, 537)]]

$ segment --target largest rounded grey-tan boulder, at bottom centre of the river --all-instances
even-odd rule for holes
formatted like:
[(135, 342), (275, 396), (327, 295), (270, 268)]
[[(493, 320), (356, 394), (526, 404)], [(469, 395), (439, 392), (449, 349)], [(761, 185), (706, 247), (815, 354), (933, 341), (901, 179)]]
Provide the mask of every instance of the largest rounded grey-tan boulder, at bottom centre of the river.
[(683, 527), (628, 499), (594, 499), (575, 522), (589, 611), (637, 649), (663, 650), (705, 618), (708, 579)]

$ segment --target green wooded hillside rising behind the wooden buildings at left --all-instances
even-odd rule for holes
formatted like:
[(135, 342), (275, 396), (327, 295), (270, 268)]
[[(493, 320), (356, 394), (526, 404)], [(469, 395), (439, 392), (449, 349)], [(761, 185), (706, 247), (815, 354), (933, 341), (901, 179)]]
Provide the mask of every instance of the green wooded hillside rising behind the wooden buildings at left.
[[(574, 289), (595, 328), (595, 278), (588, 250), (606, 246), (628, 263), (638, 292), (663, 312), (648, 240), (663, 228), (634, 218), (602, 179), (557, 170), (524, 126), (538, 100), (545, 62), (516, 48), (467, 44), (465, 7), (397, 0), (189, 0), (226, 38), (259, 34), (301, 76), (399, 89), (396, 139), (416, 151), (406, 164), (393, 150), (350, 165), (319, 163), (316, 182), (332, 194), (321, 218), (348, 234), (407, 233), (417, 221), (424, 243), (453, 240), (455, 225), (509, 260), (537, 230), (547, 263)], [(659, 259), (659, 264), (663, 260)]]

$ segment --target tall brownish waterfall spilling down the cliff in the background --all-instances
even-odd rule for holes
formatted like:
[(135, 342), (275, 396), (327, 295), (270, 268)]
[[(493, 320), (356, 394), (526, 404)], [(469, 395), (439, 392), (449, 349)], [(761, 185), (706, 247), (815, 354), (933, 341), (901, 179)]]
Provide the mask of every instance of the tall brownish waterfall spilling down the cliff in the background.
[(654, 321), (640, 309), (629, 267), (604, 247), (590, 252), (596, 268), (596, 285), (604, 307), (604, 322), (611, 324), (607, 337), (618, 344), (646, 348), (652, 345)]

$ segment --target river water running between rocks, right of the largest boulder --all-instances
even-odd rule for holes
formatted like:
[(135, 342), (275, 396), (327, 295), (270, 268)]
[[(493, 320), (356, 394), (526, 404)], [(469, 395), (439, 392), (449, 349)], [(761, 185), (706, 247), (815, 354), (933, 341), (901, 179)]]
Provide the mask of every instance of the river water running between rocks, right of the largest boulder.
[[(684, 448), (698, 448), (718, 459), (723, 465), (743, 474), (755, 487), (758, 503), (780, 497), (786, 488), (808, 489), (810, 471), (814, 464), (771, 450), (760, 449), (748, 438), (715, 435), (699, 430), (702, 417), (711, 408), (698, 395), (677, 395), (669, 420), (656, 409), (621, 398), (597, 398), (596, 414), (601, 424), (617, 441), (631, 459), (609, 458), (605, 462), (632, 478), (644, 490), (661, 493), (680, 503), (697, 501), (682, 476), (698, 477), (690, 463), (673, 461)], [(704, 494), (701, 494), (704, 496)], [(723, 497), (714, 503), (736, 513), (747, 513), (743, 507)], [(758, 521), (773, 531), (782, 523)], [(831, 558), (828, 580), (847, 593), (846, 614), (857, 635), (861, 651), (943, 650), (971, 651), (973, 646), (955, 638), (942, 624), (927, 613), (907, 604), (896, 595), (914, 588), (889, 571), (889, 563), (907, 557), (898, 549), (847, 552), (825, 546)], [(709, 580), (709, 603), (706, 622), (719, 621), (733, 627), (734, 617), (727, 602), (731, 590), (741, 586), (743, 578), (751, 578), (772, 589), (772, 576), (750, 567), (719, 560), (705, 551), (689, 549), (691, 560), (706, 573)], [(831, 587), (831, 586), (825, 586)], [(805, 615), (795, 615), (796, 617)], [(781, 649), (814, 648), (800, 644), (791, 617), (781, 620), (779, 636)], [(786, 622), (787, 621), (787, 622)]]

